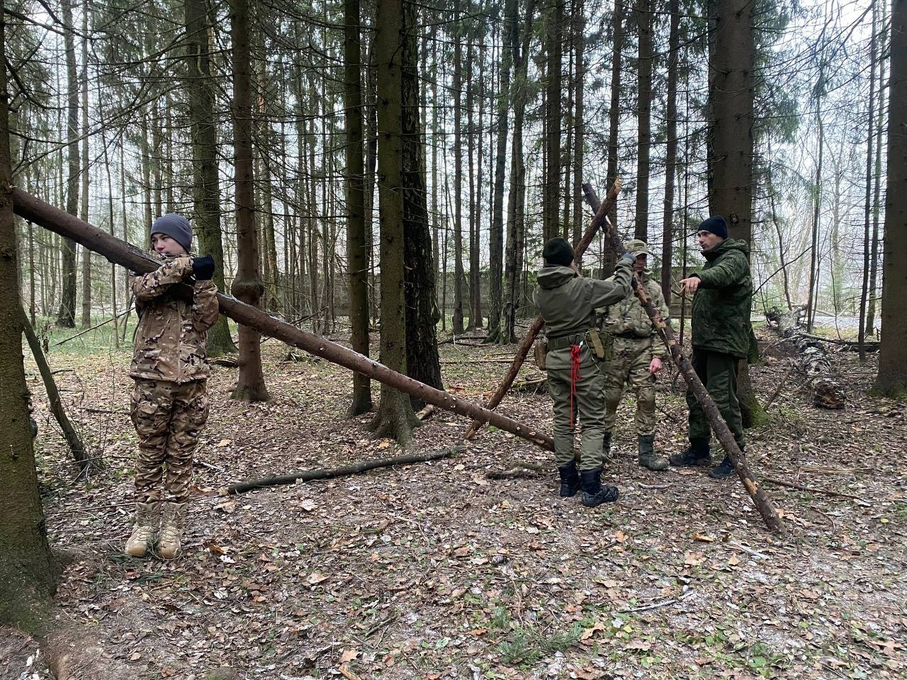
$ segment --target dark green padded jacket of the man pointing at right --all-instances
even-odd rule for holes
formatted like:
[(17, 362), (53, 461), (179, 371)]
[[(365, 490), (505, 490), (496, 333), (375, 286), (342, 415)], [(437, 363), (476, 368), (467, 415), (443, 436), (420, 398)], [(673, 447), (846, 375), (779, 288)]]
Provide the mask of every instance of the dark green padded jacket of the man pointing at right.
[(693, 275), (700, 281), (693, 296), (693, 346), (746, 358), (754, 339), (749, 247), (746, 241), (728, 238), (703, 255), (706, 266)]

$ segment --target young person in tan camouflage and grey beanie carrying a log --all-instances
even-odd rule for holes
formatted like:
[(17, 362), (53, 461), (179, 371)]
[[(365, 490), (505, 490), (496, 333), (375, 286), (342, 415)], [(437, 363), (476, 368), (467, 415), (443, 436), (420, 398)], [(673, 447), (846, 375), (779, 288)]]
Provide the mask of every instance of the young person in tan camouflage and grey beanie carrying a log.
[[(151, 226), (162, 264), (130, 277), (139, 314), (130, 377), (132, 423), (139, 434), (136, 519), (126, 553), (171, 559), (189, 509), (192, 453), (208, 420), (208, 329), (218, 318), (214, 260), (190, 254), (189, 221), (170, 213)], [(180, 287), (180, 284), (187, 287)], [(180, 289), (182, 288), (182, 289)]]

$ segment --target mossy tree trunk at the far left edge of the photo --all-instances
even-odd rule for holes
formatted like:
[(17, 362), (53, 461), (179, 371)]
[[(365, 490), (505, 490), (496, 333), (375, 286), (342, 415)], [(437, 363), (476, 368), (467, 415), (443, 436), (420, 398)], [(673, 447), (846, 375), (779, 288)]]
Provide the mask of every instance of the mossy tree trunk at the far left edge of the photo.
[[(0, 63), (5, 63), (5, 44), (5, 16), (0, 13)], [(47, 543), (28, 422), (8, 96), (6, 69), (0, 68), (0, 318), (5, 322), (0, 324), (0, 625), (34, 631), (42, 627), (44, 613), (44, 607), (35, 605), (50, 604), (58, 569)]]

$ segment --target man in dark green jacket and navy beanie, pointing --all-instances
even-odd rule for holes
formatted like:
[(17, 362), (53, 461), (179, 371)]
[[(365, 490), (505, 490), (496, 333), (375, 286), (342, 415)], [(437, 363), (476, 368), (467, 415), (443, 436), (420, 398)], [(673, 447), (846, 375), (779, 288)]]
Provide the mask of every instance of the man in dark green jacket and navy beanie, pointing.
[[(749, 355), (753, 337), (749, 320), (753, 300), (749, 247), (746, 241), (727, 238), (727, 223), (720, 215), (699, 225), (697, 238), (706, 257), (706, 266), (698, 274), (680, 281), (684, 294), (695, 294), (690, 362), (743, 451), (746, 441), (740, 403), (736, 398), (736, 372), (738, 362)], [(670, 462), (672, 465), (706, 466), (711, 462), (708, 419), (690, 389), (687, 390), (687, 404), (689, 448), (671, 456)], [(708, 476), (720, 480), (732, 474), (734, 465), (726, 453), (724, 460), (709, 471)]]

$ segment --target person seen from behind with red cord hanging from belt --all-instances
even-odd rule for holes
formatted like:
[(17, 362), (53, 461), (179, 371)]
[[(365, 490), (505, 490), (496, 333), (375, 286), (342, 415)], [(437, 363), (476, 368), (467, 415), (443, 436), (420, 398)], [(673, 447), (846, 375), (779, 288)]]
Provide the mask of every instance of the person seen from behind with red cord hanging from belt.
[[(618, 499), (618, 490), (601, 484), (604, 401), (602, 379), (590, 348), (590, 330), (597, 331), (595, 309), (613, 305), (629, 295), (631, 267), (636, 257), (620, 257), (613, 281), (580, 277), (573, 265), (573, 248), (552, 238), (542, 250), (544, 268), (532, 299), (547, 326), (548, 390), (554, 402), (554, 459), (561, 475), (561, 497), (582, 489), (583, 505), (592, 507)], [(573, 458), (573, 425), (582, 423), (580, 473)]]

